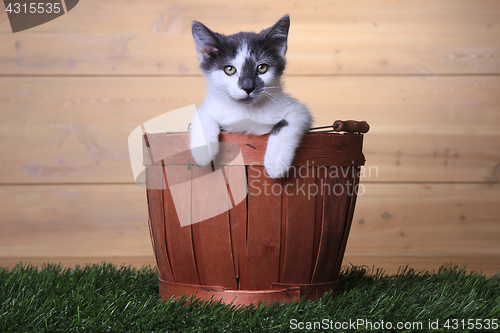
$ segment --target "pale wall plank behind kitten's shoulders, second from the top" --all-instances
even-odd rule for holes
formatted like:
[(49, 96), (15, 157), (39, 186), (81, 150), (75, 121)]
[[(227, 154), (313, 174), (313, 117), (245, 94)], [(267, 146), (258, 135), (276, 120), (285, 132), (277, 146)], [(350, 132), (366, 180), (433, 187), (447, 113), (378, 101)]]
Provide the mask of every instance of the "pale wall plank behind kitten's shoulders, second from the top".
[[(2, 183), (133, 181), (129, 133), (203, 96), (198, 78), (1, 78), (0, 86)], [(498, 181), (499, 87), (498, 77), (287, 80), (316, 124), (369, 122), (371, 181)]]

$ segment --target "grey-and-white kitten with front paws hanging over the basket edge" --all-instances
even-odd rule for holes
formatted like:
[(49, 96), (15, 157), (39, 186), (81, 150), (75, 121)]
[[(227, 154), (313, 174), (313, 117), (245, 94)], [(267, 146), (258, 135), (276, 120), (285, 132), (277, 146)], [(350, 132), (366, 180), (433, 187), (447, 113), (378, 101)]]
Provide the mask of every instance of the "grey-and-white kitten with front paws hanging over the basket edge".
[(208, 85), (205, 101), (192, 121), (191, 151), (198, 165), (209, 164), (217, 155), (219, 133), (224, 130), (271, 133), (264, 157), (266, 172), (279, 178), (290, 168), (312, 116), (282, 89), (289, 27), (288, 15), (258, 34), (225, 36), (200, 22), (192, 23), (200, 69)]

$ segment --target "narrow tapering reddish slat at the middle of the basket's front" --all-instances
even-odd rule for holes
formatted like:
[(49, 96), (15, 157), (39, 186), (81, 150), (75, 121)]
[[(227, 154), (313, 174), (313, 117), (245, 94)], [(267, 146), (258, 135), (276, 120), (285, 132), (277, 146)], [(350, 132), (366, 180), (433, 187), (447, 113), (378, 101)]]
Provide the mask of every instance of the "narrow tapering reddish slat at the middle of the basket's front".
[[(227, 167), (229, 184), (239, 184), (242, 181), (239, 168), (241, 167)], [(245, 176), (244, 173), (243, 176)], [(245, 180), (246, 179), (243, 181)], [(243, 184), (245, 184), (246, 187), (246, 181)], [(244, 285), (246, 277), (244, 272), (246, 272), (247, 261), (247, 201), (246, 198), (244, 198), (240, 203), (237, 203), (237, 200), (237, 198), (234, 198), (236, 206), (229, 210), (229, 224), (231, 225), (231, 245), (233, 249), (234, 270), (239, 281), (239, 285)]]

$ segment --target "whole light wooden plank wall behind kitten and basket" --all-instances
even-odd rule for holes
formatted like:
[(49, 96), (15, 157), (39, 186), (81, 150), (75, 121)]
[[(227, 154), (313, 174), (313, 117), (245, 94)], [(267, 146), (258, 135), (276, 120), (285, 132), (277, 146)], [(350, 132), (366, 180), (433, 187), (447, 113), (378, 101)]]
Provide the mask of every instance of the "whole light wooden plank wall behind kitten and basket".
[(16, 34), (2, 8), (0, 264), (153, 263), (128, 134), (202, 101), (192, 20), (285, 13), (286, 90), (318, 125), (372, 127), (346, 263), (499, 271), (497, 0), (86, 0)]

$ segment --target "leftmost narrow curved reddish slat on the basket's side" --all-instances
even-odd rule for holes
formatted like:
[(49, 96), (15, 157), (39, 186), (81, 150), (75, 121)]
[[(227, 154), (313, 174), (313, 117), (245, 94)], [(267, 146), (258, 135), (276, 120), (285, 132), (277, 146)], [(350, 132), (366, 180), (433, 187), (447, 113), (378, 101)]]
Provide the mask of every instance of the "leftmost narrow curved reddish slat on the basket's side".
[(161, 165), (151, 165), (146, 168), (146, 187), (149, 207), (149, 225), (151, 229), (153, 248), (160, 278), (174, 282), (174, 275), (168, 258), (165, 240), (163, 206), (163, 190), (165, 181)]

